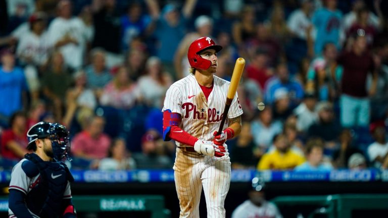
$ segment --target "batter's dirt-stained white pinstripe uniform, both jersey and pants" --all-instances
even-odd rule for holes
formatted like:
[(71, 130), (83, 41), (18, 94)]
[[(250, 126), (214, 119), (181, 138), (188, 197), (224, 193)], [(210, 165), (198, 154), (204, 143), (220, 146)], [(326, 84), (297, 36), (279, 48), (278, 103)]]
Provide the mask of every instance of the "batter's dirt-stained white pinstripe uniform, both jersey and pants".
[[(214, 76), (208, 100), (193, 75), (175, 82), (167, 90), (164, 107), (182, 116), (180, 128), (202, 140), (212, 140), (218, 131), (225, 107), (229, 82)], [(229, 119), (243, 114), (237, 93), (232, 100)], [(227, 123), (224, 129), (227, 128)], [(208, 217), (225, 217), (224, 202), (230, 185), (230, 158), (211, 157), (186, 151), (188, 145), (176, 142), (174, 163), (175, 187), (180, 204), (180, 217), (199, 217), (199, 202), (204, 189)]]

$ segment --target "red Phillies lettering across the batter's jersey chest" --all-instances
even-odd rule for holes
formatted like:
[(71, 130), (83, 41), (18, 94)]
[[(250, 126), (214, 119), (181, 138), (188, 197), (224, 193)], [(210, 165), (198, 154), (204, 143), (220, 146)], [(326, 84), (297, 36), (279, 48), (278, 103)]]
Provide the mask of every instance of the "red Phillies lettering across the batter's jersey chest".
[[(205, 114), (206, 110), (205, 108), (197, 110), (197, 105), (191, 103), (191, 102), (185, 102), (182, 104), (182, 109), (184, 111), (184, 118), (189, 118), (190, 112), (192, 113), (192, 119), (193, 120), (206, 120)], [(208, 123), (214, 123), (219, 122), (222, 120), (223, 113), (220, 114), (220, 110), (217, 110), (216, 108), (208, 108)]]

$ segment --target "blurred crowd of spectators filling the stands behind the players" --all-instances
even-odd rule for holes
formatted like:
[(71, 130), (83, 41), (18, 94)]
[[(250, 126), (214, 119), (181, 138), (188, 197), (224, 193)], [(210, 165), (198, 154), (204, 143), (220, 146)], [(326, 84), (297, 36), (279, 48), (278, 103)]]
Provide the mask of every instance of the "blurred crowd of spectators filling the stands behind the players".
[[(73, 169), (171, 169), (164, 95), (191, 41), (238, 87), (233, 169), (388, 168), (388, 4), (337, 0), (0, 0), (0, 161), (36, 122), (70, 129)], [(385, 14), (384, 14), (385, 13)], [(257, 108), (265, 103), (264, 110)]]

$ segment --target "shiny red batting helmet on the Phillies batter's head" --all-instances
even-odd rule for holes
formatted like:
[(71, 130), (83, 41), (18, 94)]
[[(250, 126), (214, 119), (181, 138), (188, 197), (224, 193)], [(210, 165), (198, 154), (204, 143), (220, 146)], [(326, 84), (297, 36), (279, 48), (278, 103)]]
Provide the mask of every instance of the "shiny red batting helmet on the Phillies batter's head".
[(203, 59), (199, 53), (206, 49), (214, 49), (216, 52), (222, 49), (221, 45), (217, 45), (213, 39), (209, 37), (201, 37), (191, 42), (190, 47), (188, 47), (187, 59), (188, 63), (192, 68), (206, 70), (211, 65), (212, 62), (206, 59)]

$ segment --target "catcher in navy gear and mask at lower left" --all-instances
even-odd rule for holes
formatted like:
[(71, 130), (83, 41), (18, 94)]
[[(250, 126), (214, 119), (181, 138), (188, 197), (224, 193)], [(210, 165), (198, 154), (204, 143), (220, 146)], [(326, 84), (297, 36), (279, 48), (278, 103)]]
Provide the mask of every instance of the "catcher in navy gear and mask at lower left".
[(69, 159), (69, 132), (60, 124), (39, 122), (27, 138), (27, 149), (34, 152), (12, 170), (8, 217), (76, 217), (70, 191), (74, 179), (61, 162)]

